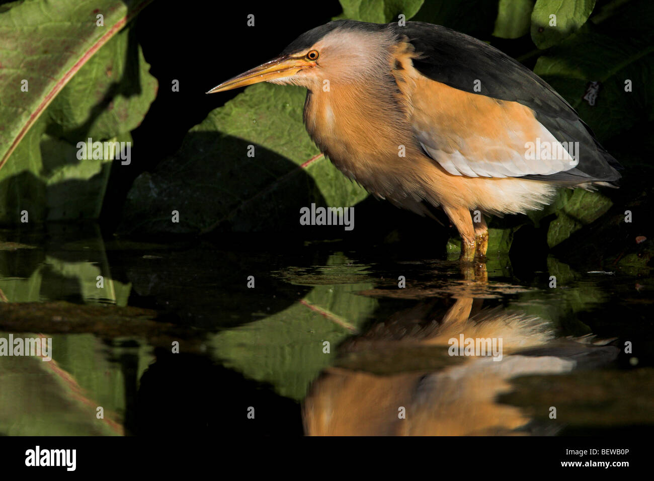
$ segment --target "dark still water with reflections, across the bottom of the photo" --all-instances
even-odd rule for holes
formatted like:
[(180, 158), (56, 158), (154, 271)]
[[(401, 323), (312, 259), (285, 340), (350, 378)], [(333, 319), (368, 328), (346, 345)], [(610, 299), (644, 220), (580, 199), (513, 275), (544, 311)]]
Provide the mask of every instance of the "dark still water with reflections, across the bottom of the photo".
[[(0, 231), (0, 338), (52, 339), (52, 361), (0, 357), (0, 434), (594, 435), (654, 421), (651, 277), (248, 239)], [(501, 360), (449, 355), (461, 334), (501, 340)]]

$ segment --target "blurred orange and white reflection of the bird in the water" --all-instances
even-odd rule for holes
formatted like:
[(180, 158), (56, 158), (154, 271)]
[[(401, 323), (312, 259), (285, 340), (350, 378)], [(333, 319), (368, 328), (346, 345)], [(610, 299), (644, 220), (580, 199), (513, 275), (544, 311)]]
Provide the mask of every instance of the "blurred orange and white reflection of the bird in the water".
[[(328, 368), (305, 399), (305, 433), (552, 435), (559, 429), (554, 423), (539, 425), (521, 408), (497, 401), (511, 391), (511, 378), (562, 374), (617, 357), (617, 347), (606, 341), (592, 336), (557, 339), (548, 321), (504, 308), (482, 308), (483, 299), (458, 297), (444, 315), (441, 302), (426, 300), (398, 312), (339, 349), (345, 366), (348, 358), (373, 357), (373, 364), (379, 365), (394, 363), (402, 357), (398, 353), (413, 352), (429, 368), (414, 365), (384, 375), (366, 372), (356, 361), (354, 367), (341, 363)], [(501, 338), (502, 359), (449, 355), (451, 339), (459, 340), (461, 334), (477, 340)]]

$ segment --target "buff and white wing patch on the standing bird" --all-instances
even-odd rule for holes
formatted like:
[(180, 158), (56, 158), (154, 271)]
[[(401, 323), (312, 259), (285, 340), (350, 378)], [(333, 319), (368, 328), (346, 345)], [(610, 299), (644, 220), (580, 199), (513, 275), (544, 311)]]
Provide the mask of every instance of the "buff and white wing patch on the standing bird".
[(413, 133), (452, 175), (552, 175), (579, 163), (579, 143), (557, 140), (526, 105), (464, 92), (419, 73), (411, 79), (413, 84), (405, 83), (411, 86)]

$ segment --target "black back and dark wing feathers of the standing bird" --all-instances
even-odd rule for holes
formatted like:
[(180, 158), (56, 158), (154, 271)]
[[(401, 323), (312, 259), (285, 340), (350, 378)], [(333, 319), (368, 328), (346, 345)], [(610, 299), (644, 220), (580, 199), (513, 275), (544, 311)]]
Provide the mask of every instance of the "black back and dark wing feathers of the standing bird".
[[(572, 106), (521, 63), (482, 41), (446, 27), (407, 22), (405, 27), (389, 24), (388, 28), (397, 35), (405, 35), (415, 52), (421, 54), (413, 60), (413, 66), (428, 79), (470, 94), (525, 105), (555, 139), (562, 143), (579, 142), (576, 167), (523, 178), (584, 183), (610, 182), (621, 177), (615, 170), (621, 168), (620, 164), (596, 141), (592, 130)], [(475, 80), (481, 80), (481, 92), (474, 92)]]

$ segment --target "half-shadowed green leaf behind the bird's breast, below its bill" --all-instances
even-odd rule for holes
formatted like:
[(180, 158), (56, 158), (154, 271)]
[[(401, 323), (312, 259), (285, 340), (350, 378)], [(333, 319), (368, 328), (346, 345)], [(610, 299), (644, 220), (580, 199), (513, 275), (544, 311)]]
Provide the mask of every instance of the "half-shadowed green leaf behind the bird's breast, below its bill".
[[(347, 207), (367, 192), (320, 152), (302, 123), (306, 91), (257, 84), (215, 109), (128, 194), (122, 230), (295, 228), (311, 203)], [(179, 223), (171, 222), (173, 210)]]

